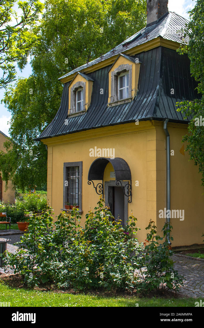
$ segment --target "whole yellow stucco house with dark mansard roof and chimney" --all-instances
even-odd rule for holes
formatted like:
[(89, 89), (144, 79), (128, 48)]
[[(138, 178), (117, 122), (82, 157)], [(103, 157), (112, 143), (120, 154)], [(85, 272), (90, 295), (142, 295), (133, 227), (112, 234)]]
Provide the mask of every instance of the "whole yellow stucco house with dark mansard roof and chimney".
[(143, 30), (60, 78), (61, 106), (38, 138), (48, 149), (47, 198), (56, 215), (76, 203), (84, 224), (102, 194), (115, 218), (138, 218), (139, 242), (152, 219), (160, 235), (171, 222), (172, 246), (200, 244), (203, 187), (181, 142), (190, 118), (176, 111), (199, 97), (188, 57), (176, 52), (186, 20), (168, 1), (156, 11), (148, 3)]

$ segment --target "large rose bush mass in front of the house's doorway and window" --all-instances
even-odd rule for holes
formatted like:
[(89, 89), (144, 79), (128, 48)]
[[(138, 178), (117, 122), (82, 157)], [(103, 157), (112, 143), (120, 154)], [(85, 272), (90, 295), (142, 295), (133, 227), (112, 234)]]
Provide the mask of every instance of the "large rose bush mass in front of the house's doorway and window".
[[(76, 289), (128, 288), (135, 284), (135, 259), (140, 247), (132, 215), (126, 233), (100, 200), (95, 212), (86, 215), (80, 227), (80, 215), (74, 208), (61, 213), (53, 230), (51, 209), (29, 219), (29, 231), (20, 242), (20, 250), (9, 253), (7, 263), (20, 273), (29, 286), (51, 281), (59, 287)], [(21, 248), (27, 247), (28, 250)]]

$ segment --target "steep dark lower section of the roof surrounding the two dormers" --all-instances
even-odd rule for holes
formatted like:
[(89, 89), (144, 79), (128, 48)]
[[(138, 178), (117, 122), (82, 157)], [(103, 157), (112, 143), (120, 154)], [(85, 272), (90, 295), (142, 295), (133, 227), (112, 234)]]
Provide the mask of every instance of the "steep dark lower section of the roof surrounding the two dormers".
[[(176, 111), (176, 102), (198, 98), (197, 86), (190, 73), (187, 55), (164, 47), (154, 48), (133, 56), (142, 62), (139, 73), (138, 93), (133, 101), (108, 107), (108, 70), (106, 66), (87, 75), (94, 80), (91, 104), (87, 112), (67, 117), (68, 84), (64, 84), (60, 108), (53, 121), (36, 140), (80, 132), (88, 129), (124, 124), (139, 120), (163, 120), (185, 123)], [(100, 89), (103, 94), (100, 94)], [(171, 90), (174, 89), (174, 94)], [(68, 119), (68, 125), (65, 125)], [(187, 122), (190, 120), (188, 118)]]

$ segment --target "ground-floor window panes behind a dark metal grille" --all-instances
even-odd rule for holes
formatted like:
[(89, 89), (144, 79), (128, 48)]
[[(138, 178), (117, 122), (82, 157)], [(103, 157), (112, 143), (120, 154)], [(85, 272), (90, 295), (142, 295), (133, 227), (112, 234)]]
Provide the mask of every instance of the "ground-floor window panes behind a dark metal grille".
[(79, 166), (67, 167), (67, 202), (79, 205)]

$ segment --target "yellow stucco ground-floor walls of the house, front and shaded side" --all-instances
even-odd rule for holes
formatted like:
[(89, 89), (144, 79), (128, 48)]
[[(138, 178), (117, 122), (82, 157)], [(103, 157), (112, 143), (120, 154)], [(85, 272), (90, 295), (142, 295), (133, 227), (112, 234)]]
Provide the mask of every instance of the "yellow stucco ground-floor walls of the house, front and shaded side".
[[(179, 150), (182, 136), (187, 132), (185, 125), (168, 123), (171, 156), (171, 209), (185, 210), (184, 221), (174, 218), (172, 246), (202, 243), (204, 232), (203, 205), (204, 196), (201, 176), (188, 155), (183, 156)], [(149, 219), (158, 226), (158, 233), (164, 224), (159, 219), (158, 211), (166, 207), (166, 135), (163, 122), (139, 122), (73, 133), (42, 140), (48, 146), (47, 197), (55, 215), (63, 208), (63, 165), (64, 162), (83, 161), (82, 176), (82, 224), (85, 214), (96, 206), (99, 195), (93, 185), (88, 185), (88, 171), (96, 157), (89, 156), (89, 149), (115, 148), (115, 157), (123, 158), (132, 174), (132, 203), (128, 204), (128, 215), (138, 218), (139, 242), (144, 241)], [(104, 181), (113, 171), (108, 164), (104, 172)], [(135, 186), (135, 181), (139, 186)], [(95, 185), (101, 181), (94, 181)]]

